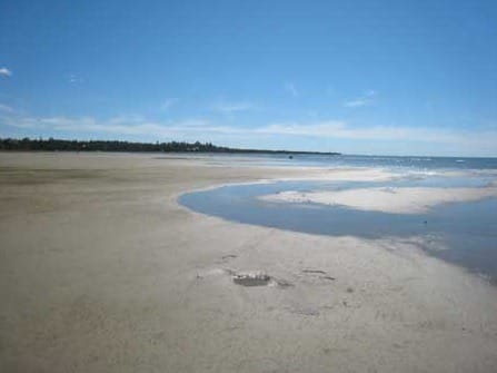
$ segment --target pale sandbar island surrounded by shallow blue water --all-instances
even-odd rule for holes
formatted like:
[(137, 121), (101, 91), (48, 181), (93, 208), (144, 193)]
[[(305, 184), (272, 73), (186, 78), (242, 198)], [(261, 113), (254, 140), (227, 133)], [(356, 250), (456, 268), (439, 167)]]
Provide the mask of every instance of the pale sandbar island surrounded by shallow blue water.
[(326, 192), (282, 192), (260, 199), (284, 203), (340, 205), (362, 210), (394, 214), (421, 214), (446, 203), (497, 197), (497, 187), (485, 188), (357, 188)]

